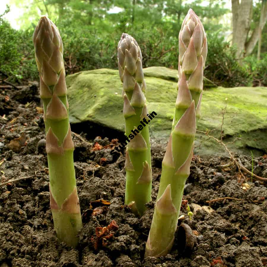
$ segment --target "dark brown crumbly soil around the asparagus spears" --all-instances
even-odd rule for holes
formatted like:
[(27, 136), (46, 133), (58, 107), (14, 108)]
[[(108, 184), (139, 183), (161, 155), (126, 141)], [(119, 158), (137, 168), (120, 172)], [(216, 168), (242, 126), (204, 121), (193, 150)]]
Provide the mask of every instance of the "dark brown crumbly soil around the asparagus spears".
[[(9, 99), (5, 98), (9, 96)], [(166, 143), (152, 141), (152, 201), (142, 218), (124, 206), (124, 155), (110, 155), (114, 131), (88, 140), (90, 133), (73, 134), (74, 165), (80, 198), (83, 228), (77, 249), (66, 247), (56, 238), (49, 207), (49, 175), (45, 154), (45, 129), (38, 113), (36, 85), (0, 93), (0, 171), (1, 181), (28, 177), (0, 186), (0, 266), (239, 266), (258, 267), (267, 262), (267, 189), (258, 181), (240, 174), (227, 157), (201, 158), (195, 155), (187, 179), (180, 214), (197, 236), (192, 251), (179, 253), (178, 237), (169, 255), (144, 259), (144, 248), (153, 215)], [(72, 125), (72, 129), (78, 129)], [(75, 127), (76, 126), (76, 127)], [(90, 127), (87, 127), (88, 129)], [(26, 143), (20, 137), (26, 134)], [(107, 136), (108, 138), (104, 138)], [(96, 137), (96, 136), (95, 136)], [(88, 138), (88, 139), (87, 139)], [(98, 144), (103, 148), (99, 147)], [(101, 148), (96, 150), (96, 148)], [(2, 161), (1, 161), (2, 160)], [(252, 160), (240, 158), (251, 170)], [(266, 157), (256, 158), (254, 173), (266, 177)], [(246, 183), (244, 185), (244, 183)], [(238, 198), (206, 201), (231, 197)], [(108, 202), (93, 203), (104, 199)], [(110, 202), (110, 204), (109, 204)], [(104, 207), (103, 207), (104, 206)], [(92, 209), (97, 207), (103, 207)], [(94, 249), (92, 237), (99, 226), (115, 220), (114, 237)]]

